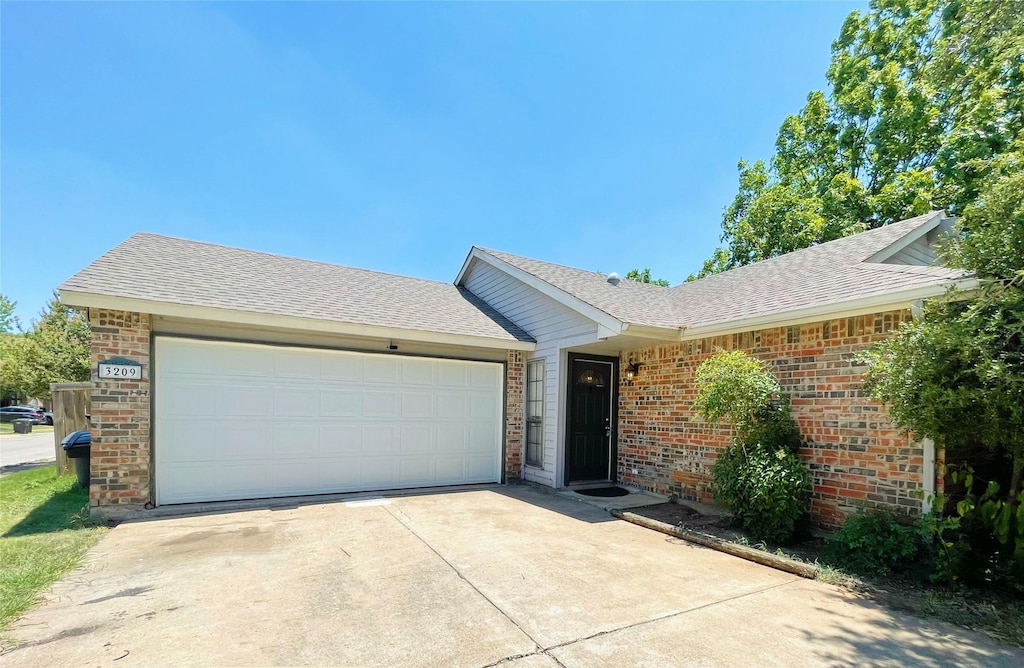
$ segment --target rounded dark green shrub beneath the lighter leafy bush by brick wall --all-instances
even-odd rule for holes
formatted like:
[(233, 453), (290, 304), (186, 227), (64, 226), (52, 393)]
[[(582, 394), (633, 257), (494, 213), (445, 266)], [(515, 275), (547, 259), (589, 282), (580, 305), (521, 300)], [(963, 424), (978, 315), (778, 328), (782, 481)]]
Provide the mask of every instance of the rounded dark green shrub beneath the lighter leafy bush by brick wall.
[(811, 476), (784, 448), (734, 444), (712, 469), (715, 499), (755, 539), (785, 544), (807, 525)]

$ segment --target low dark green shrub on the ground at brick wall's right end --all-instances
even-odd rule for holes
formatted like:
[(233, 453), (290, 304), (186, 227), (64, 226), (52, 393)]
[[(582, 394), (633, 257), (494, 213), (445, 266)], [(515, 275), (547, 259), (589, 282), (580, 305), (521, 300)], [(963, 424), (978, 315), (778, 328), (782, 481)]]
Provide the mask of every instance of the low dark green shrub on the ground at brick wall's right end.
[(930, 570), (928, 528), (922, 520), (872, 510), (850, 515), (828, 537), (824, 558), (866, 576), (922, 574)]

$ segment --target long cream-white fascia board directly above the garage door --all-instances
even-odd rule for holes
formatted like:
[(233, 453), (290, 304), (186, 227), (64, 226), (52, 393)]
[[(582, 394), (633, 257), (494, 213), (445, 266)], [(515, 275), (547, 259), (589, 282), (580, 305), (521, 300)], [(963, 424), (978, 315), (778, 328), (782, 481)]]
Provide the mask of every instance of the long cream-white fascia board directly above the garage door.
[(478, 348), (499, 348), (508, 350), (534, 350), (537, 344), (530, 341), (515, 339), (499, 339), (469, 334), (449, 334), (427, 330), (403, 329), (399, 327), (384, 327), (380, 325), (361, 325), (358, 323), (343, 323), (317, 318), (300, 318), (298, 316), (281, 316), (278, 314), (261, 314), (250, 310), (234, 310), (230, 308), (215, 308), (179, 304), (150, 299), (134, 299), (130, 297), (115, 297), (88, 292), (60, 290), (61, 303), (81, 308), (112, 308), (128, 310), (154, 316), (170, 318), (188, 318), (207, 320), (238, 325), (254, 325), (260, 327), (278, 327), (283, 329), (326, 332), (348, 336), (362, 336), (380, 339), (398, 339), (402, 341), (418, 341), (421, 343), (441, 343)]

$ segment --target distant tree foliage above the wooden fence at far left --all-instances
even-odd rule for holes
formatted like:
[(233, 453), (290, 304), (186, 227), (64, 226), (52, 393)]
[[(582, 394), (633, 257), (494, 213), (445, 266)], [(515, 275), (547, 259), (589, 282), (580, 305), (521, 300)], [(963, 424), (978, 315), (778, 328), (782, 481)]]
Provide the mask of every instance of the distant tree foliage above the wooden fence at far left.
[(88, 380), (91, 340), (84, 315), (54, 295), (31, 330), (0, 342), (3, 393), (46, 399), (50, 383)]

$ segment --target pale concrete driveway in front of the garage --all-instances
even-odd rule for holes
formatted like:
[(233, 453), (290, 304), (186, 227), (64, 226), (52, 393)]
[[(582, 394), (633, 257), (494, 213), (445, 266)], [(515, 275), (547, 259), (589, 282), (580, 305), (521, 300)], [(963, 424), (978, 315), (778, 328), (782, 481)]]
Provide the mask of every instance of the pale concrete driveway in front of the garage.
[(1024, 665), (526, 487), (125, 524), (13, 634), (4, 668)]

